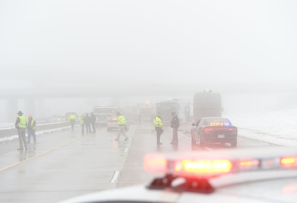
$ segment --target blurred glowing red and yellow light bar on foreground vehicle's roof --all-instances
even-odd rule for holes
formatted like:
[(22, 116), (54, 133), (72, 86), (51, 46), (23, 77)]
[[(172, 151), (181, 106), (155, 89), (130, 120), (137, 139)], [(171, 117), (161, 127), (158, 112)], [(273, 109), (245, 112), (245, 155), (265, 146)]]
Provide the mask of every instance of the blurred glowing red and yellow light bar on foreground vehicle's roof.
[(151, 153), (144, 157), (144, 169), (181, 177), (215, 177), (228, 173), (297, 168), (296, 150), (225, 150), (185, 154)]

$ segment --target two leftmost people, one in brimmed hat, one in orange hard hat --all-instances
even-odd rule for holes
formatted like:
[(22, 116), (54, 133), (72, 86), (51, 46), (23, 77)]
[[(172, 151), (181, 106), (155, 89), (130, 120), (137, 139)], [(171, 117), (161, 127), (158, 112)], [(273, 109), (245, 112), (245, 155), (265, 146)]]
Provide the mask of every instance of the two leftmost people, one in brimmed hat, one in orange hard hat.
[[(33, 119), (33, 116), (29, 114), (28, 120), (23, 116), (22, 111), (19, 111), (18, 117), (15, 121), (15, 128), (18, 129), (18, 136), (19, 136), (19, 144), (20, 148), (18, 150), (25, 150), (28, 149), (28, 145), (31, 141), (31, 136), (33, 137), (34, 143), (36, 143), (36, 135), (35, 135), (35, 126), (36, 121)], [(26, 128), (28, 129), (28, 141), (26, 142)]]

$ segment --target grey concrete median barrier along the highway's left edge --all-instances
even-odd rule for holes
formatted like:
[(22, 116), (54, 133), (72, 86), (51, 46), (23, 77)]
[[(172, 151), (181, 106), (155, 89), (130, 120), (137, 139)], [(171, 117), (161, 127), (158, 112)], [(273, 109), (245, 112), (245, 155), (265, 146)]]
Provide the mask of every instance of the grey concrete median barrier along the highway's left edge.
[[(75, 125), (80, 124), (80, 120), (75, 121)], [(59, 122), (59, 123), (48, 123), (48, 124), (37, 124), (36, 125), (36, 133), (39, 131), (47, 131), (53, 129), (59, 129), (63, 127), (71, 126), (70, 122)], [(26, 131), (27, 133), (27, 131)], [(15, 127), (10, 128), (2, 128), (0, 129), (0, 138), (1, 137), (10, 137), (13, 135), (18, 135), (18, 129)]]

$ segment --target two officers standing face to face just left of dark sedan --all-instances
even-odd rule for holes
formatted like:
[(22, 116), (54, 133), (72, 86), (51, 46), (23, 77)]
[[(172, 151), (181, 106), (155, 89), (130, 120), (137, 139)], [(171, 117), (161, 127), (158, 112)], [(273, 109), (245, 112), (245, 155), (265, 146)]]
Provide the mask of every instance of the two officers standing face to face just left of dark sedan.
[[(179, 119), (175, 112), (172, 112), (171, 116), (172, 116), (172, 120), (170, 121), (171, 123), (170, 127), (173, 128), (173, 136), (172, 136), (172, 142), (170, 142), (170, 144), (177, 146), (178, 145), (177, 131), (179, 127)], [(156, 117), (154, 117), (154, 126), (157, 132), (157, 145), (161, 145), (162, 142), (160, 142), (160, 137), (161, 137), (161, 134), (164, 132), (164, 130), (162, 129), (163, 120), (161, 118), (160, 112), (157, 114)]]

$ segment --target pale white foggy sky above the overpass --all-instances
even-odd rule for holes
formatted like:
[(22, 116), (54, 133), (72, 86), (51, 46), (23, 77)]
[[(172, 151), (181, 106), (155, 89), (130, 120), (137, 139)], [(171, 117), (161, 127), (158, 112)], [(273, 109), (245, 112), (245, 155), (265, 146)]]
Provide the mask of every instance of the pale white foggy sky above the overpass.
[(294, 0), (0, 0), (0, 85), (294, 82), (296, 11)]

